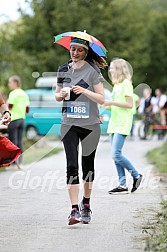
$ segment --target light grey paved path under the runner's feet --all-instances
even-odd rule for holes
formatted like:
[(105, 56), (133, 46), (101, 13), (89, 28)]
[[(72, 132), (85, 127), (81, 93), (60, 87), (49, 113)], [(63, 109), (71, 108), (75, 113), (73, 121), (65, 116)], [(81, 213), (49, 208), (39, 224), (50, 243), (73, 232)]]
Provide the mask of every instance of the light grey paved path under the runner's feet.
[[(158, 177), (145, 153), (158, 141), (127, 141), (124, 152), (145, 176), (139, 190), (109, 195), (117, 183), (108, 138), (102, 138), (96, 158), (96, 180), (89, 225), (67, 225), (70, 204), (65, 185), (64, 152), (21, 171), (0, 173), (1, 252), (141, 252), (141, 227), (162, 200)], [(35, 155), (35, 153), (34, 153)], [(132, 180), (128, 174), (128, 185)], [(82, 193), (80, 195), (82, 198)]]

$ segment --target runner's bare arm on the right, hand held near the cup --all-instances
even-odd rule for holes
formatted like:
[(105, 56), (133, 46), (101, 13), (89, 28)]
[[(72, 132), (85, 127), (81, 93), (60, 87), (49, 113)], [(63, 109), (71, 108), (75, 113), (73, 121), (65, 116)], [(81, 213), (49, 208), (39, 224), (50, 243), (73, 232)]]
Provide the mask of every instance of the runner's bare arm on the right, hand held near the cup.
[(92, 92), (88, 89), (85, 89), (83, 87), (80, 87), (78, 85), (72, 87), (72, 91), (75, 94), (84, 94), (86, 97), (88, 97), (90, 100), (103, 104), (104, 103), (104, 88), (103, 88), (103, 83), (99, 83), (96, 85), (93, 85), (94, 91)]

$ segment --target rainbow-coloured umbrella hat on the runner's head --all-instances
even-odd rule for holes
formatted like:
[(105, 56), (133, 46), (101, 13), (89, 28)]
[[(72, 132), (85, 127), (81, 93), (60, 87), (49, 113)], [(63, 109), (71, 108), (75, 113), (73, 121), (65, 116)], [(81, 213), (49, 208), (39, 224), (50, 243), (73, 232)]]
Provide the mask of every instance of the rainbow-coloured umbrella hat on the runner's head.
[(89, 47), (99, 56), (106, 57), (107, 49), (105, 46), (92, 35), (86, 33), (86, 31), (76, 31), (76, 32), (65, 32), (54, 36), (54, 43), (64, 46), (66, 49), (70, 50), (70, 43), (73, 38), (80, 38), (89, 42)]

